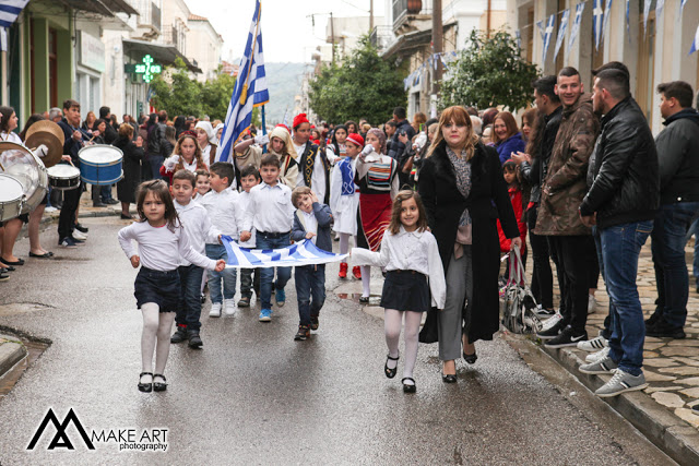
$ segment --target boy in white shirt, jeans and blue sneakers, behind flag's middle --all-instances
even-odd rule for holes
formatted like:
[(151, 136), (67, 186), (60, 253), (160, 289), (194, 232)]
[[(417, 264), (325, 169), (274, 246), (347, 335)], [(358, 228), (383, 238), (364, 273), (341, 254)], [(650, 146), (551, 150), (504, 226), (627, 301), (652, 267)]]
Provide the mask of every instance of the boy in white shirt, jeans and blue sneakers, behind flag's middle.
[[(262, 157), (260, 176), (263, 182), (250, 190), (250, 204), (245, 212), (240, 241), (248, 241), (254, 228), (257, 249), (285, 248), (291, 244), (295, 210), (292, 204), (292, 190), (280, 183), (280, 159), (275, 155), (268, 154)], [(284, 287), (291, 277), (291, 267), (276, 267), (276, 282), (274, 267), (260, 271), (260, 322), (272, 320), (272, 288), (275, 289), (276, 306), (284, 306)]]

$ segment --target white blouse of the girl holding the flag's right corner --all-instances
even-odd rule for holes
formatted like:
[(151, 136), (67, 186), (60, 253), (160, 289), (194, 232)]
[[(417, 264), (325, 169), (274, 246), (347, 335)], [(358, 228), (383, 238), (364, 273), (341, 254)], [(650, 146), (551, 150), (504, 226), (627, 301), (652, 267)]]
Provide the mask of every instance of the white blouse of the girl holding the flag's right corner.
[(401, 230), (391, 235), (388, 230), (381, 240), (381, 251), (352, 248), (352, 261), (356, 265), (372, 265), (387, 271), (415, 271), (427, 276), (433, 306), (445, 309), (447, 282), (439, 256), (437, 240), (431, 232)]

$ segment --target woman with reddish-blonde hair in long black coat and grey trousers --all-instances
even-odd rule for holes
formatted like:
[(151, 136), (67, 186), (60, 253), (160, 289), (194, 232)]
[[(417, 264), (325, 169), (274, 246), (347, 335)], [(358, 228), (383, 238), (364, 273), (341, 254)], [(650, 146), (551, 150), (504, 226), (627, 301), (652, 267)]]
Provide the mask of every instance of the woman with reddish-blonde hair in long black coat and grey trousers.
[(498, 154), (478, 141), (463, 107), (442, 112), (418, 190), (447, 278), (445, 309), (431, 311), (420, 340), (434, 342), (428, 335), (437, 327), (442, 380), (453, 383), (462, 344), (464, 359), (473, 363), (474, 343), (493, 339), (499, 328), (498, 218), (512, 247), (521, 246)]

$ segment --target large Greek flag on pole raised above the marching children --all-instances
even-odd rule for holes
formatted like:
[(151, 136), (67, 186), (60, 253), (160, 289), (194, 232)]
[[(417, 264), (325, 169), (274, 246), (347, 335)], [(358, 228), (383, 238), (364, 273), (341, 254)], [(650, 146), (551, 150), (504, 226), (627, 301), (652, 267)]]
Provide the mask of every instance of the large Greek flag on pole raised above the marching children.
[(262, 55), (261, 9), (261, 0), (257, 0), (248, 41), (240, 59), (238, 79), (228, 104), (226, 121), (221, 135), (221, 151), (216, 152), (216, 162), (233, 160), (234, 145), (252, 122), (252, 108), (270, 101)]

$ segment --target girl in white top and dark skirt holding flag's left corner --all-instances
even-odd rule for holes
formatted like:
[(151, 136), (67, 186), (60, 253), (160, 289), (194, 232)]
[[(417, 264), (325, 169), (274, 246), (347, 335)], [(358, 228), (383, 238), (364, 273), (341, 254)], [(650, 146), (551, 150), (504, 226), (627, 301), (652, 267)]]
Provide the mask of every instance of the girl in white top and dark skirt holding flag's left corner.
[[(170, 350), (170, 330), (179, 304), (177, 267), (180, 258), (209, 270), (222, 271), (226, 264), (222, 260), (206, 259), (191, 247), (165, 181), (141, 183), (137, 210), (141, 220), (122, 228), (118, 238), (133, 268), (141, 265), (133, 291), (143, 313), (142, 372), (138, 386), (141, 392), (162, 392), (167, 390), (164, 372)], [(138, 253), (132, 241), (139, 244)]]

